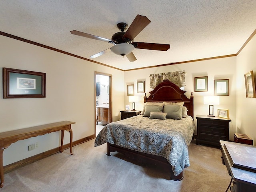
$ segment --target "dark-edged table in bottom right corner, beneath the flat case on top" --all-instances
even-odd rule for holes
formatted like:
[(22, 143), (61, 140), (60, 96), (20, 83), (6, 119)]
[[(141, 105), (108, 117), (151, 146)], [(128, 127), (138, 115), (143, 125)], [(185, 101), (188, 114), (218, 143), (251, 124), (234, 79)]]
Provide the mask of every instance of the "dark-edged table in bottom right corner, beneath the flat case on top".
[[(226, 149), (224, 148), (224, 144), (232, 143), (234, 145), (246, 146), (246, 144), (228, 142), (228, 141), (220, 141), (221, 152), (222, 152), (222, 163), (226, 165), (228, 174), (234, 180), (233, 186), (231, 187), (232, 192), (251, 192), (256, 191), (256, 173), (250, 172), (247, 170), (242, 170), (239, 168), (232, 167), (230, 159), (228, 158), (228, 154)], [(246, 161), (246, 156), (244, 156), (244, 161)]]

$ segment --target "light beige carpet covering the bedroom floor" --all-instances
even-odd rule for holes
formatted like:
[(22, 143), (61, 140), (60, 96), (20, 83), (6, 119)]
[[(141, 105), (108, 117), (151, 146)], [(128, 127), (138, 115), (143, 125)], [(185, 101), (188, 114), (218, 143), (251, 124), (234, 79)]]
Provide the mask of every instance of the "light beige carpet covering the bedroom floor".
[(4, 175), (0, 192), (224, 192), (230, 182), (221, 150), (190, 144), (190, 167), (181, 181), (166, 180), (165, 170), (129, 162), (94, 140)]

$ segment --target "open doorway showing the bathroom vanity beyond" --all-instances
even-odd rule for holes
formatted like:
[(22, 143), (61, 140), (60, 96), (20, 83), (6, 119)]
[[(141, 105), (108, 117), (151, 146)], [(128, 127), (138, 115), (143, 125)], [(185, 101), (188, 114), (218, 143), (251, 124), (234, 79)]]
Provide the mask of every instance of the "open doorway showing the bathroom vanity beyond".
[(95, 134), (112, 122), (112, 75), (95, 72)]

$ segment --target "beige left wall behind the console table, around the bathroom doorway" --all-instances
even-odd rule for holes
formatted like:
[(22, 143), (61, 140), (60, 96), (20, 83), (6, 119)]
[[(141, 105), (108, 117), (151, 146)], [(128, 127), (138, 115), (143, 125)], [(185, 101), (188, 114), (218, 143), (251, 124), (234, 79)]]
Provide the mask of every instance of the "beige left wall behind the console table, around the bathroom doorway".
[[(112, 74), (113, 121), (124, 106), (124, 72), (39, 46), (0, 36), (0, 90), (2, 68), (46, 73), (46, 98), (3, 99), (0, 97), (0, 132), (69, 120), (73, 141), (94, 134), (94, 72)], [(28, 151), (28, 145), (39, 148)], [(65, 132), (64, 144), (69, 142)], [(4, 165), (60, 146), (60, 133), (29, 138), (4, 150)], [(75, 153), (75, 151), (74, 151)]]

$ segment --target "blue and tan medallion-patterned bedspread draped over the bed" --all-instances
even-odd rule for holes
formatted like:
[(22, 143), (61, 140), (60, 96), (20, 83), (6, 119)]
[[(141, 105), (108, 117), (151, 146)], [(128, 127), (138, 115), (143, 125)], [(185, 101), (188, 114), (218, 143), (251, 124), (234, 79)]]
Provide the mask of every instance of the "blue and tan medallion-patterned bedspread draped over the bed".
[(190, 165), (188, 147), (195, 124), (192, 117), (182, 120), (148, 119), (142, 115), (112, 122), (100, 131), (94, 146), (106, 142), (132, 150), (163, 156), (177, 176)]

